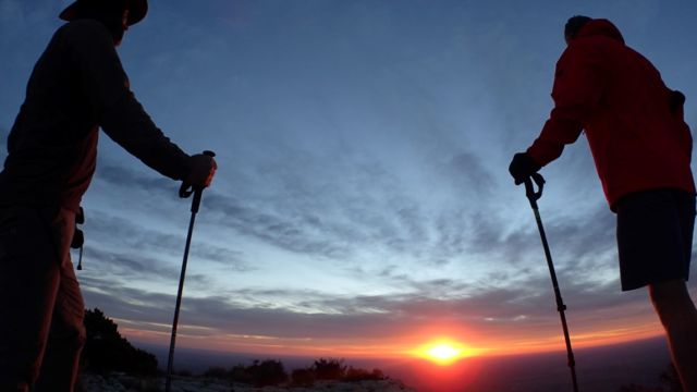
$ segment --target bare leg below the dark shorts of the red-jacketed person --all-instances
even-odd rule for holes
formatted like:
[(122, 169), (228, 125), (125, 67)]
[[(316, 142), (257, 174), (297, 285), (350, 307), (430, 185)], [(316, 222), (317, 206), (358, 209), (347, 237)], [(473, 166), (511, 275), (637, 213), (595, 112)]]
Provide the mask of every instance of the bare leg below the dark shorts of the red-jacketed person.
[(649, 284), (649, 295), (685, 392), (697, 392), (697, 309), (683, 280)]

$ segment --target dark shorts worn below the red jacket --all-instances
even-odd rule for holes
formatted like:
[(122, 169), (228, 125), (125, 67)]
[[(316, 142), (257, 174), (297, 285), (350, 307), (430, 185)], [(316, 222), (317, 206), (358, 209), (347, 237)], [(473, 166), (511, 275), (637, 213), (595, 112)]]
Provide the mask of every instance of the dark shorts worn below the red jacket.
[(622, 291), (689, 278), (695, 195), (637, 192), (620, 199), (616, 212)]

